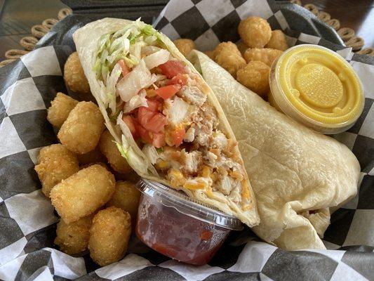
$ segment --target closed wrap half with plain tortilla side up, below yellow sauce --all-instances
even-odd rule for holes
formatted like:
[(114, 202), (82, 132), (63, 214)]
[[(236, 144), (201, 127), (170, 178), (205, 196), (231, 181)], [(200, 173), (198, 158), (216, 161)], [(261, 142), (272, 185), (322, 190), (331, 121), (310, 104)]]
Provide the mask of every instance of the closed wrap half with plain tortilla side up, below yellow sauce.
[(276, 111), (203, 53), (190, 57), (239, 142), (261, 219), (254, 232), (282, 249), (326, 249), (321, 237), (329, 210), (357, 192), (356, 157), (342, 143)]

